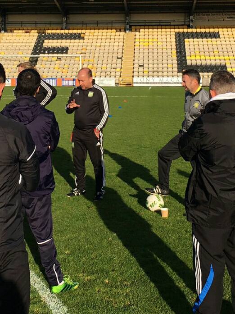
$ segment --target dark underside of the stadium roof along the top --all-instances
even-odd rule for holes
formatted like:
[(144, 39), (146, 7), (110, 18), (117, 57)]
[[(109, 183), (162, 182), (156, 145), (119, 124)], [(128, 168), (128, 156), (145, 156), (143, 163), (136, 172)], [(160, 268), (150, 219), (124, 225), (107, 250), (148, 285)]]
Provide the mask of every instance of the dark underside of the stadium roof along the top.
[(6, 14), (231, 12), (234, 0), (0, 0)]

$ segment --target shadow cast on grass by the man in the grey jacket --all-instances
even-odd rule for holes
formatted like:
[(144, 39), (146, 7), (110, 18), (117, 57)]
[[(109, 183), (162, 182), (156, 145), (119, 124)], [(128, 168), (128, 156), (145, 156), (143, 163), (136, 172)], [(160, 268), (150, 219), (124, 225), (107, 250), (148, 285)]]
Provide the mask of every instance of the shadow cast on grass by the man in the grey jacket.
[[(126, 182), (130, 187), (136, 190), (136, 195), (131, 195), (138, 199), (138, 203), (145, 207), (145, 200), (146, 200), (146, 192), (144, 192), (145, 187), (139, 187), (134, 179), (141, 178), (142, 180), (146, 181), (149, 186), (156, 185), (156, 179), (150, 174), (149, 169), (146, 167), (137, 164), (136, 162), (121, 156), (116, 153), (112, 153), (107, 149), (104, 149), (104, 153), (109, 155), (118, 165), (121, 166), (117, 176), (124, 182)], [(186, 188), (186, 187), (185, 187)], [(170, 190), (170, 195), (179, 203), (184, 205), (184, 198), (182, 198), (178, 193)]]

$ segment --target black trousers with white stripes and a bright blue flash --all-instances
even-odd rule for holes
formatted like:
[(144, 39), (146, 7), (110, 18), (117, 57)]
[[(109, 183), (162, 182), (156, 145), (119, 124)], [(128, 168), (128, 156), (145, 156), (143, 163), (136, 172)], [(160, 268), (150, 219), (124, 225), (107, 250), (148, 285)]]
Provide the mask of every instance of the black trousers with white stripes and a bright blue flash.
[(225, 265), (232, 279), (235, 310), (235, 228), (214, 229), (192, 224), (197, 299), (193, 313), (220, 314)]

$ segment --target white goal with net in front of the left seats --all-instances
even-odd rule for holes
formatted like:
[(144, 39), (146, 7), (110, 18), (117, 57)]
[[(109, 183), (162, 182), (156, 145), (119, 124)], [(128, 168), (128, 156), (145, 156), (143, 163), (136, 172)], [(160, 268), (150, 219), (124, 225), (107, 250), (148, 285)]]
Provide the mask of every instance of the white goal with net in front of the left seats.
[(81, 54), (0, 54), (0, 63), (5, 68), (7, 78), (17, 78), (17, 65), (25, 61), (30, 61), (42, 78), (75, 78), (82, 68), (83, 56)]

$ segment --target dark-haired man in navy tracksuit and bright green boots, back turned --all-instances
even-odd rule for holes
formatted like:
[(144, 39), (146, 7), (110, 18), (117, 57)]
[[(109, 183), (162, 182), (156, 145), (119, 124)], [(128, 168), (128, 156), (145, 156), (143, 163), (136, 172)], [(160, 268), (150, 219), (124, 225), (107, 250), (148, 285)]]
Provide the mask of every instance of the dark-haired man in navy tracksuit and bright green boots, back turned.
[(43, 108), (35, 95), (40, 87), (40, 75), (34, 69), (19, 73), (17, 88), (20, 96), (6, 106), (2, 113), (23, 123), (36, 144), (40, 162), (40, 181), (35, 192), (22, 192), (22, 204), (29, 226), (35, 236), (41, 263), (45, 268), (52, 293), (77, 288), (77, 283), (63, 276), (56, 259), (56, 247), (52, 237), (51, 193), (55, 188), (51, 152), (56, 149), (60, 132), (55, 115)]

